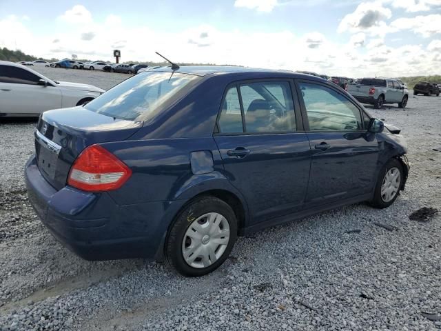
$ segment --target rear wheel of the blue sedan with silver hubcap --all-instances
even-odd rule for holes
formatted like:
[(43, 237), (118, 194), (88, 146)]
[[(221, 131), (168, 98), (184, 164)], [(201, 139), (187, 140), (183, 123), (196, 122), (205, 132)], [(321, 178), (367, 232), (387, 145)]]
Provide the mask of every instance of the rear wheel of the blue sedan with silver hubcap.
[[(209, 221), (210, 217), (212, 221)], [(210, 228), (210, 224), (214, 227)], [(229, 238), (225, 240), (228, 228)], [(195, 234), (199, 238), (193, 237)], [(214, 235), (216, 238), (210, 238)], [(236, 238), (237, 220), (232, 208), (215, 197), (201, 197), (189, 203), (176, 217), (165, 240), (165, 259), (184, 276), (203, 276), (216, 270), (227, 259)], [(223, 243), (215, 242), (216, 239)], [(184, 258), (186, 250), (188, 262)]]

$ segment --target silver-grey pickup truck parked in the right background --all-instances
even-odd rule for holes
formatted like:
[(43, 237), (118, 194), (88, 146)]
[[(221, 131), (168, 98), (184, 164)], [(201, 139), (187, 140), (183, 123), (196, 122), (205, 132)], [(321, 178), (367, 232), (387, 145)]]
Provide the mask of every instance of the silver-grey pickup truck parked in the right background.
[(363, 78), (358, 83), (349, 83), (347, 92), (358, 101), (377, 109), (385, 103), (398, 103), (398, 107), (405, 108), (409, 100), (409, 91), (396, 79)]

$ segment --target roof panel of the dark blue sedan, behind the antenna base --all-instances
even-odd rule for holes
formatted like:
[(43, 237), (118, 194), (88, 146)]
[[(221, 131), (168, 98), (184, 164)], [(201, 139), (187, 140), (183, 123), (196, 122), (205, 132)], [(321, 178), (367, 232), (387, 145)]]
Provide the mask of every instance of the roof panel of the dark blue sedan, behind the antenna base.
[(177, 70), (172, 70), (170, 66), (160, 67), (156, 69), (149, 70), (149, 72), (180, 72), (182, 74), (194, 74), (196, 76), (209, 76), (213, 74), (243, 74), (245, 77), (246, 74), (260, 74), (262, 77), (291, 77), (298, 79), (318, 79), (322, 81), (323, 79), (320, 77), (312, 76), (310, 74), (302, 74), (300, 72), (294, 72), (291, 70), (272, 70), (272, 69), (263, 69), (263, 68), (248, 68), (241, 66), (181, 66)]

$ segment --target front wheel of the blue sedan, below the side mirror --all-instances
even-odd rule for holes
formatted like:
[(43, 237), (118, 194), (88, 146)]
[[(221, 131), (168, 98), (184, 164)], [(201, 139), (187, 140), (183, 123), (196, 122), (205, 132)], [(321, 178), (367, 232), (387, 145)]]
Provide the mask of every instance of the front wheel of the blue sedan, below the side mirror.
[[(394, 170), (397, 171), (395, 173), (399, 173), (398, 181), (392, 181), (392, 185), (387, 186), (387, 177), (386, 175), (394, 174)], [(393, 177), (389, 177), (393, 178)], [(373, 193), (373, 199), (371, 201), (371, 205), (374, 208), (387, 208), (389, 205), (393, 203), (400, 194), (400, 190), (402, 188), (402, 183), (404, 179), (404, 171), (402, 169), (402, 164), (397, 159), (390, 159), (380, 170), (378, 174), (378, 179), (376, 183), (375, 192)], [(385, 185), (385, 186), (384, 186)], [(384, 187), (383, 187), (384, 186)], [(392, 192), (391, 197), (388, 197), (389, 192)], [(390, 198), (390, 199), (389, 199)]]

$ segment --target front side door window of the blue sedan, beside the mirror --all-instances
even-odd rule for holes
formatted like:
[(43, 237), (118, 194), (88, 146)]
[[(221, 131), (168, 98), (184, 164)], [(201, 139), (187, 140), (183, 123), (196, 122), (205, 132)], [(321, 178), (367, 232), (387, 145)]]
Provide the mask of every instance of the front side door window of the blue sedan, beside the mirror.
[(314, 83), (299, 83), (311, 131), (358, 131), (360, 110), (335, 90)]

